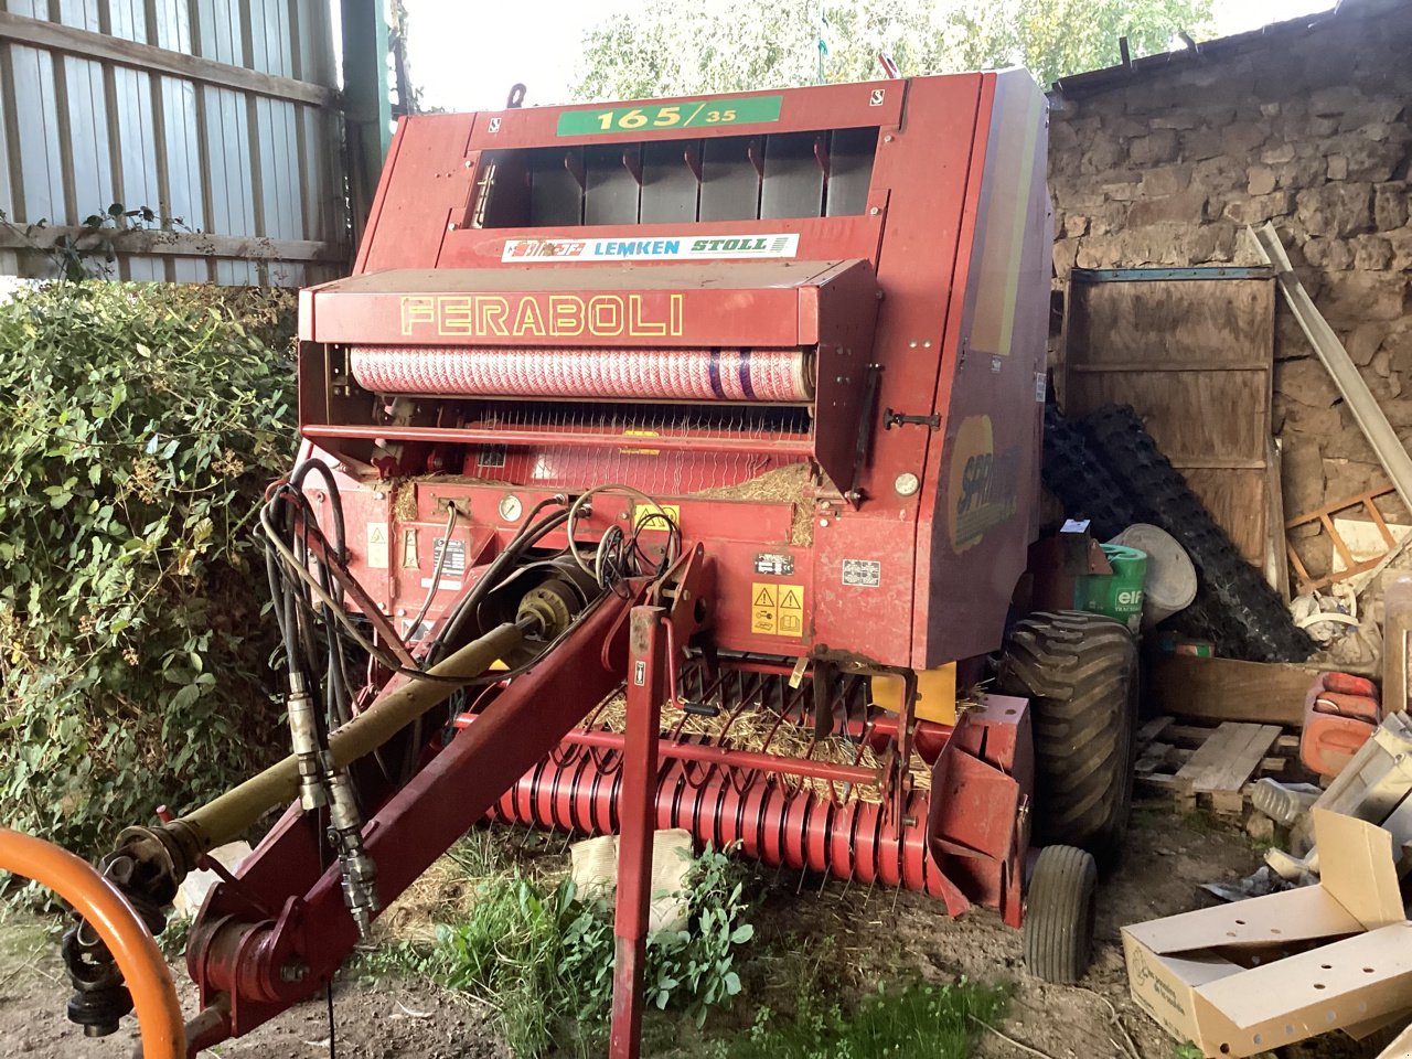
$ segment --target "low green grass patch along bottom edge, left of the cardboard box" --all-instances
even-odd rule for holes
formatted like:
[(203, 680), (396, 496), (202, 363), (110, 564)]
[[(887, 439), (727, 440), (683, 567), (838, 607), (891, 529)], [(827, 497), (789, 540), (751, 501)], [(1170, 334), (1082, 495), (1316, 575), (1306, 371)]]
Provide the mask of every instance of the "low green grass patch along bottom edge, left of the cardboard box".
[(1007, 990), (964, 979), (868, 994), (851, 1014), (806, 993), (791, 1019), (755, 1012), (748, 1034), (719, 1042), (719, 1059), (966, 1059), (981, 1022), (1004, 1015)]

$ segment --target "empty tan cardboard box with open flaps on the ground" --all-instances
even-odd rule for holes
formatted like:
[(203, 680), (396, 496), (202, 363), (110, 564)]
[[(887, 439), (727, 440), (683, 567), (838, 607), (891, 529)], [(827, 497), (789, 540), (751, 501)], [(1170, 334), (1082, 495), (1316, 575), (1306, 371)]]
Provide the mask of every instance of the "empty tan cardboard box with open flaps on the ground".
[(1392, 836), (1315, 809), (1319, 885), (1123, 928), (1132, 998), (1207, 1056), (1250, 1056), (1412, 1010)]

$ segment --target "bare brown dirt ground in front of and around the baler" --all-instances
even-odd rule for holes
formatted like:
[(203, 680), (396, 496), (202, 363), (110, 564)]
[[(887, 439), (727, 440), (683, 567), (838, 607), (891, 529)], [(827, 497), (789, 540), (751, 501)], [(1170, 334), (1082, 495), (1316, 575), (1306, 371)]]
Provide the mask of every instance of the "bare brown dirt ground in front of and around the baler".
[[(693, 1059), (707, 1053), (712, 1036), (750, 1025), (754, 1010), (788, 1007), (799, 971), (799, 953), (829, 962), (830, 980), (858, 993), (878, 981), (923, 977), (950, 981), (1008, 981), (1014, 1000), (998, 1027), (1014, 1042), (1052, 1059), (1121, 1059), (1124, 1035), (1144, 1059), (1172, 1059), (1173, 1042), (1128, 998), (1118, 928), (1204, 904), (1199, 884), (1234, 878), (1258, 863), (1250, 843), (1234, 830), (1183, 820), (1161, 806), (1135, 813), (1124, 866), (1103, 884), (1097, 952), (1077, 987), (1028, 977), (1021, 966), (1019, 933), (995, 915), (946, 918), (939, 902), (912, 894), (825, 882), (798, 874), (765, 874), (755, 914), (755, 956), (746, 964), (744, 1003), (709, 1022), (705, 1036), (683, 1019), (650, 1021), (648, 1055)], [(832, 938), (829, 942), (826, 939)], [(178, 981), (185, 973), (176, 971)], [(131, 1055), (130, 1022), (117, 1038), (89, 1041), (64, 1017), (66, 988), (56, 946), (42, 925), (0, 925), (0, 1059), (99, 1059)], [(195, 1007), (189, 983), (188, 1010)], [(337, 1055), (347, 1059), (498, 1059), (508, 1049), (496, 1038), (483, 1005), (431, 986), (371, 987), (357, 980), (335, 990)], [(329, 1053), (323, 1001), (305, 1004), (254, 1034), (222, 1045), (220, 1056), (318, 1059)], [(1031, 1055), (1011, 1041), (984, 1034), (980, 1059)], [(210, 1053), (208, 1053), (210, 1055)], [(1330, 1035), (1285, 1049), (1282, 1059), (1356, 1059), (1374, 1056), (1372, 1045)]]

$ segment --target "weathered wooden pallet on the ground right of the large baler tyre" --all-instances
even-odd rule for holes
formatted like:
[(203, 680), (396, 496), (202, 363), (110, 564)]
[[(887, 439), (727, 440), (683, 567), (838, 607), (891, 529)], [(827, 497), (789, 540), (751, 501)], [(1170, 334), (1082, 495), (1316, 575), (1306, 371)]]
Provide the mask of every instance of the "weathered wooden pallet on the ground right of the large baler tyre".
[(1278, 724), (1199, 726), (1158, 717), (1138, 731), (1138, 747), (1137, 785), (1171, 796), (1183, 812), (1202, 806), (1240, 816), (1255, 778), (1285, 777), (1299, 765), (1299, 736)]

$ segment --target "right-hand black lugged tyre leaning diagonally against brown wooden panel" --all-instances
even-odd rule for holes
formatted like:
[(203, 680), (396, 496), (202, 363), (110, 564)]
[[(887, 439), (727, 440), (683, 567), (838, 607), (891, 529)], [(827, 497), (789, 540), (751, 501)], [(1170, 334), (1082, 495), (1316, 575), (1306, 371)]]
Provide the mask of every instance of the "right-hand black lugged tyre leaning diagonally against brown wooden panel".
[(1100, 408), (1083, 429), (1114, 480), (1141, 498), (1148, 518), (1180, 542), (1196, 566), (1199, 613), (1214, 626), (1219, 645), (1255, 662), (1302, 662), (1315, 644), (1289, 617), (1264, 575), (1236, 551), (1226, 531), (1156, 448), (1128, 407)]

